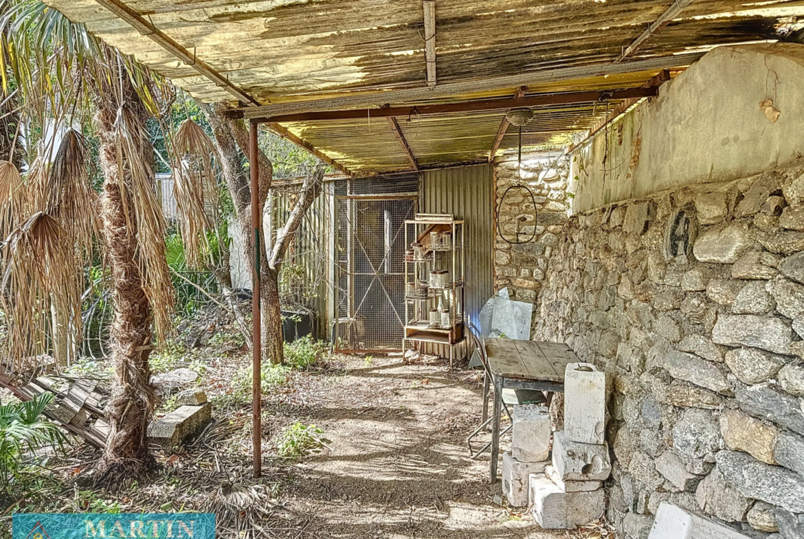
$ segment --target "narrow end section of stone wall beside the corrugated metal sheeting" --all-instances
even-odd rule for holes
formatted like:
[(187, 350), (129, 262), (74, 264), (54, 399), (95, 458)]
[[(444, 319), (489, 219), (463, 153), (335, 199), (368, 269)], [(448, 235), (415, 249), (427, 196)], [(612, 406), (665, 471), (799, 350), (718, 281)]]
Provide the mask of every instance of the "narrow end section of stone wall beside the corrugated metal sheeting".
[[(569, 157), (523, 155), (494, 166), (494, 290), (534, 302), (567, 220)], [(535, 219), (534, 219), (535, 214)]]

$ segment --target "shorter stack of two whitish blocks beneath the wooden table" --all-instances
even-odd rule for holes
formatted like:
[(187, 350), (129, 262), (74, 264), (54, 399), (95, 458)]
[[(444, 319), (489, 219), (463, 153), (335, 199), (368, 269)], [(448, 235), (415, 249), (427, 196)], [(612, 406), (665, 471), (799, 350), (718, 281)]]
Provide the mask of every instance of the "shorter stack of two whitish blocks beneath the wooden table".
[(503, 454), (503, 492), (508, 504), (527, 507), (528, 478), (544, 475), (550, 461), (550, 413), (544, 406), (514, 406), (511, 451)]

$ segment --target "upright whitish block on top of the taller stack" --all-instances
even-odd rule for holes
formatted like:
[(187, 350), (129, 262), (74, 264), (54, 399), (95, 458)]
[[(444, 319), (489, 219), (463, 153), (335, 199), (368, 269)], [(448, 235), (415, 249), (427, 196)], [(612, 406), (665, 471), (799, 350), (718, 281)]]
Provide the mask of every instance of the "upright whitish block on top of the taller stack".
[(564, 371), (564, 432), (573, 442), (605, 442), (605, 373), (591, 363)]

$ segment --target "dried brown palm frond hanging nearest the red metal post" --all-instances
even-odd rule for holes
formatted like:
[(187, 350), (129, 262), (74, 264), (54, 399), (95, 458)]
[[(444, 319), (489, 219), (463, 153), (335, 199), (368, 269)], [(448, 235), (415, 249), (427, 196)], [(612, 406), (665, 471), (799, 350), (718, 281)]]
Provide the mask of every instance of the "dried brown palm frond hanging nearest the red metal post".
[(200, 267), (209, 255), (207, 232), (217, 221), (219, 201), (211, 158), (215, 149), (207, 133), (189, 118), (176, 130), (174, 149), (180, 159), (173, 183), (178, 229), (187, 264)]

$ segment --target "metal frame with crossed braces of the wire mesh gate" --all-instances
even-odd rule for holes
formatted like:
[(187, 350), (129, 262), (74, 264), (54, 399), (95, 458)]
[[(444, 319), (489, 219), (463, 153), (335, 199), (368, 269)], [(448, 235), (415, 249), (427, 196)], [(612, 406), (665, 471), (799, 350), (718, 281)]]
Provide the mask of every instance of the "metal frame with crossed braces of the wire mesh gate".
[[(416, 211), (418, 210), (418, 206), (419, 206), (419, 194), (418, 193), (413, 193), (413, 194), (411, 194), (411, 193), (408, 193), (408, 194), (405, 194), (405, 193), (400, 193), (400, 194), (339, 194), (339, 195), (335, 195), (334, 199), (335, 199), (334, 200), (334, 202), (335, 202), (335, 204), (334, 204), (334, 213), (335, 213), (335, 217), (336, 217), (334, 219), (334, 223), (333, 223), (334, 224), (334, 227), (333, 227), (333, 230), (334, 230), (334, 245), (337, 246), (337, 244), (338, 244), (338, 238), (337, 238), (338, 224), (339, 224), (338, 223), (338, 218), (339, 217), (338, 217), (338, 214), (337, 214), (338, 202), (340, 202), (340, 201), (346, 201), (347, 202), (347, 212), (348, 212), (348, 214), (350, 216), (350, 218), (347, 219), (347, 223), (349, 223), (349, 233), (348, 233), (348, 236), (347, 236), (348, 259), (347, 259), (347, 267), (345, 268), (346, 274), (348, 276), (347, 291), (346, 291), (346, 293), (347, 293), (347, 302), (348, 302), (347, 303), (347, 305), (348, 305), (348, 307), (347, 307), (348, 318), (347, 319), (342, 319), (341, 316), (339, 316), (338, 306), (340, 305), (340, 302), (341, 302), (341, 298), (340, 298), (341, 290), (336, 285), (336, 286), (333, 287), (334, 288), (334, 296), (335, 296), (334, 297), (334, 311), (335, 311), (334, 312), (334, 333), (333, 333), (334, 351), (338, 352), (338, 353), (393, 353), (393, 352), (401, 352), (402, 351), (401, 340), (404, 337), (404, 321), (402, 321), (401, 319), (400, 319), (400, 348), (398, 348), (398, 349), (392, 349), (392, 348), (384, 348), (384, 349), (341, 348), (340, 347), (340, 339), (338, 337), (340, 335), (340, 325), (343, 324), (343, 323), (347, 323), (347, 324), (350, 324), (350, 325), (353, 324), (355, 322), (355, 316), (357, 316), (357, 313), (359, 312), (359, 308), (362, 305), (362, 303), (357, 304), (357, 306), (355, 308), (355, 296), (354, 296), (355, 295), (355, 275), (369, 275), (369, 274), (357, 274), (357, 273), (352, 271), (352, 268), (354, 267), (354, 252), (355, 252), (354, 251), (354, 245), (353, 245), (353, 242), (355, 242), (355, 228), (354, 228), (355, 220), (354, 220), (354, 218), (352, 216), (354, 215), (354, 211), (355, 211), (355, 201), (411, 200), (413, 202), (412, 214), (415, 215)], [(411, 216), (411, 218), (412, 218), (412, 216)], [(400, 235), (401, 235), (402, 238), (404, 238), (404, 219), (403, 219), (403, 222), (402, 222), (399, 230), (396, 231), (396, 235), (394, 236), (394, 239), (396, 240), (396, 238), (399, 238)], [(392, 241), (391, 243), (394, 243), (394, 242)], [(360, 244), (360, 245), (361, 245), (361, 247), (363, 247), (362, 244)], [(364, 250), (364, 253), (365, 253), (365, 250)], [(386, 256), (390, 255), (390, 253), (391, 253), (391, 251), (388, 251)], [(370, 257), (367, 256), (367, 259), (369, 259), (369, 263), (371, 263)], [(384, 258), (384, 261), (385, 261), (385, 258)], [(335, 266), (334, 267), (335, 272), (338, 272), (338, 270), (344, 269), (344, 268), (338, 267), (337, 257), (334, 257), (333, 263), (334, 263), (334, 266)], [(373, 264), (371, 264), (371, 269), (374, 270), (375, 278), (379, 278), (380, 273), (378, 272), (378, 269), (376, 267), (374, 267)], [(384, 274), (384, 275), (396, 275), (396, 274), (388, 273), (388, 274)], [(404, 273), (400, 273), (400, 275), (404, 275)], [(378, 281), (379, 281), (379, 279), (378, 279)], [(336, 277), (334, 279), (334, 284), (337, 284), (337, 283), (338, 283), (338, 279)], [(382, 284), (380, 284), (380, 286), (382, 286)], [(369, 289), (370, 288), (368, 288), (367, 291), (366, 291), (366, 294), (364, 294), (363, 300), (365, 300)], [(388, 295), (388, 292), (384, 288), (383, 288), (383, 291), (385, 292), (386, 297), (388, 297), (388, 300), (393, 305), (393, 301), (391, 300), (391, 296)], [(404, 316), (404, 304), (400, 305), (399, 306), (400, 308), (396, 308), (397, 307), (396, 305), (394, 305), (394, 307), (395, 307), (397, 316)]]

